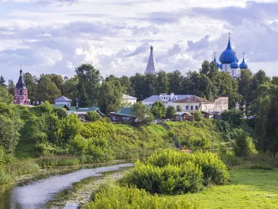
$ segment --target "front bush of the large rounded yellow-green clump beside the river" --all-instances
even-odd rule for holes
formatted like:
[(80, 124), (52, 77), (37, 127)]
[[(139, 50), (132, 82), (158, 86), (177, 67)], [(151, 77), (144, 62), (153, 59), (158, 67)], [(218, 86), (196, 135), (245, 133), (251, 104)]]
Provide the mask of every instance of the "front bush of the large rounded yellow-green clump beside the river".
[(182, 194), (202, 189), (202, 176), (201, 168), (193, 162), (165, 167), (136, 162), (135, 168), (126, 175), (126, 182), (151, 193)]

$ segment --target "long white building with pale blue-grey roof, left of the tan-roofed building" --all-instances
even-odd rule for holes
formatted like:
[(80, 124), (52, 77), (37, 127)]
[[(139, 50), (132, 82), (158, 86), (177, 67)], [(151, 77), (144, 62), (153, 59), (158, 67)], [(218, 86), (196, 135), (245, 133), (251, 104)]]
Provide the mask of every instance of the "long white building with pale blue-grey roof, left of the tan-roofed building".
[(170, 95), (167, 95), (165, 93), (161, 93), (160, 95), (152, 95), (149, 98), (142, 100), (142, 104), (152, 105), (156, 101), (162, 101), (165, 107), (174, 106), (177, 108), (179, 104), (175, 104), (174, 102), (178, 100), (184, 100), (186, 98), (189, 98), (190, 96), (192, 95), (175, 95), (174, 93), (170, 93)]

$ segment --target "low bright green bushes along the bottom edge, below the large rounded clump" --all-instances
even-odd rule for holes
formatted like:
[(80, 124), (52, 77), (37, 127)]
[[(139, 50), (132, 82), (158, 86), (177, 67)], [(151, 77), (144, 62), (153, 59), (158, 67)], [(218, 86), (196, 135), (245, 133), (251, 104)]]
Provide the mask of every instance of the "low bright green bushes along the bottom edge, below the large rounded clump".
[(195, 208), (195, 205), (188, 201), (171, 199), (170, 197), (151, 195), (144, 189), (136, 187), (120, 187), (110, 185), (97, 194), (92, 202), (87, 204), (85, 209), (128, 209), (128, 208), (149, 208), (149, 209), (181, 209)]

